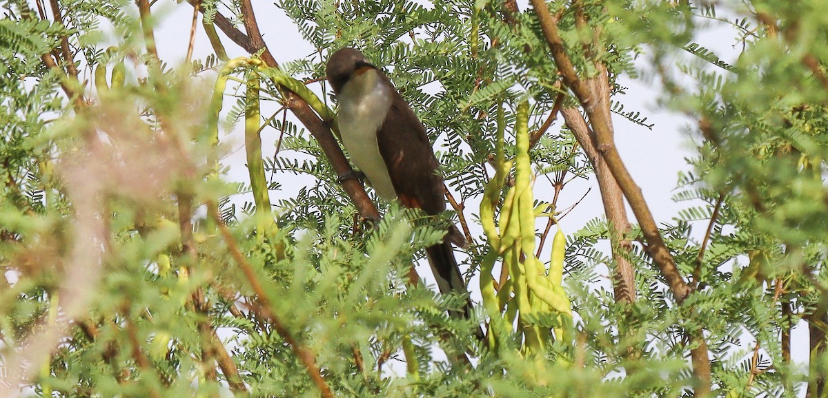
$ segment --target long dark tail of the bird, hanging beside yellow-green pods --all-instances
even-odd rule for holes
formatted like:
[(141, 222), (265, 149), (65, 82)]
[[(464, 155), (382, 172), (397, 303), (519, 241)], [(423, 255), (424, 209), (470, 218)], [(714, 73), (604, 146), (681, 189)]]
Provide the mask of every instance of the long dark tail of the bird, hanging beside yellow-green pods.
[[(440, 288), (440, 293), (448, 294), (455, 292), (458, 295), (466, 297), (466, 304), (460, 312), (450, 311), (450, 315), (455, 317), (463, 317), (468, 319), (472, 312), (471, 298), (469, 297), (469, 290), (463, 281), (463, 275), (460, 273), (460, 267), (457, 266), (457, 259), (455, 258), (454, 250), (451, 249), (449, 242), (435, 244), (426, 248), (426, 256), (428, 263), (431, 265), (431, 272), (437, 280), (437, 287)], [(483, 330), (478, 328), (475, 334), (479, 338), (484, 337)]]

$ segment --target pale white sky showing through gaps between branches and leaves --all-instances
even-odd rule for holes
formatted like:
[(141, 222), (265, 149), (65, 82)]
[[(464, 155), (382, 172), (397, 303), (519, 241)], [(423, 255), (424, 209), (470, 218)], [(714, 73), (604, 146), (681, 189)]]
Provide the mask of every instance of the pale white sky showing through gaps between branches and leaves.
[[(306, 58), (309, 55), (318, 56), (313, 54), (314, 49), (312, 46), (302, 39), (296, 30), (296, 26), (282, 14), (282, 10), (273, 6), (272, 2), (256, 1), (253, 3), (256, 7), (256, 16), (264, 40), (280, 64), (293, 59)], [(521, 10), (527, 9), (527, 2), (519, 3)], [(185, 49), (190, 36), (192, 12), (192, 7), (186, 3), (176, 4), (172, 0), (160, 0), (158, 4), (153, 6), (153, 13), (161, 16), (159, 17), (160, 24), (156, 27), (156, 45), (161, 59), (166, 60), (171, 66), (179, 64), (184, 60)], [(220, 31), (219, 35), (223, 39), (224, 46), (228, 50), (230, 58), (248, 55), (238, 48), (238, 46), (234, 45)], [(212, 54), (213, 50), (201, 28), (200, 20), (197, 25), (196, 37), (193, 59), (204, 59), (208, 54)], [(736, 44), (735, 36), (726, 28), (706, 31), (704, 35), (697, 38), (696, 42), (710, 50), (714, 50), (724, 62), (729, 64), (733, 64), (735, 57), (738, 55), (739, 48), (734, 47)], [(639, 62), (642, 66), (645, 66), (647, 57), (643, 57)], [(619, 83), (628, 87), (626, 96), (615, 98), (617, 101), (623, 102), (625, 111), (641, 111), (643, 116), (647, 116), (647, 121), (655, 124), (655, 126), (651, 131), (646, 127), (635, 125), (623, 117), (613, 115), (616, 145), (633, 178), (642, 187), (644, 197), (647, 199), (647, 204), (650, 206), (657, 222), (672, 223), (672, 217), (676, 216), (677, 211), (688, 205), (687, 203), (673, 202), (671, 197), (673, 195), (673, 189), (676, 187), (677, 173), (680, 170), (690, 170), (690, 166), (687, 165), (685, 158), (695, 154), (695, 145), (691, 142), (691, 135), (688, 135), (686, 131), (688, 131), (688, 126), (691, 127), (690, 130), (695, 130), (693, 126), (695, 126), (696, 121), (692, 121), (685, 116), (666, 111), (662, 107), (659, 107), (657, 105), (659, 92), (657, 91), (658, 83), (656, 81), (631, 81), (628, 78), (621, 78)], [(321, 97), (322, 93), (320, 92), (319, 84), (312, 84), (309, 87)], [(231, 90), (232, 88), (229, 88), (228, 92), (231, 92)], [(229, 109), (233, 104), (232, 97), (226, 98), (225, 110)], [(277, 108), (276, 106), (272, 108), (265, 107), (264, 103), (262, 105), (263, 117), (270, 116), (268, 110), (272, 112)], [(288, 117), (291, 117), (291, 115), (289, 114)], [(296, 123), (298, 124), (298, 122)], [(554, 131), (559, 129), (561, 123), (562, 118), (559, 116), (558, 121), (556, 121), (550, 130)], [(223, 142), (232, 143), (233, 153), (229, 154), (223, 162), (224, 164), (231, 165), (228, 178), (234, 181), (248, 181), (248, 173), (245, 167), (245, 154), (243, 149), (241, 149), (243, 145), (242, 129), (243, 126), (239, 124), (237, 129), (230, 132), (229, 135), (221, 135)], [(272, 129), (262, 131), (262, 154), (267, 157), (272, 156), (277, 137), (277, 131)], [(440, 148), (438, 147), (436, 150), (440, 150)], [(269, 177), (270, 175), (268, 173)], [(297, 178), (296, 176), (286, 175), (284, 173), (278, 175), (277, 181), (282, 182), (287, 192), (294, 191), (294, 189), (291, 189), (291, 184), (296, 184), (293, 188), (298, 189), (301, 185), (311, 183), (307, 182), (306, 178)], [(575, 203), (575, 201), (578, 201), (589, 187), (592, 187), (591, 192), (561, 222), (561, 226), (567, 234), (579, 230), (587, 221), (596, 216), (603, 216), (604, 208), (601, 204), (595, 178), (590, 179), (588, 182), (580, 180), (567, 185), (561, 192), (559, 208), (566, 208)], [(549, 184), (545, 181), (542, 183), (542, 179), (538, 179), (535, 196), (537, 198), (551, 200), (552, 192), (551, 189), (547, 188), (549, 188)], [(271, 195), (272, 202), (275, 203), (279, 197), (284, 197), (285, 193), (272, 192)], [(234, 201), (238, 206), (241, 206), (244, 201), (253, 201), (253, 199), (252, 196), (238, 197)], [(472, 212), (477, 213), (476, 206), (476, 204), (467, 203), (467, 217)], [(628, 211), (628, 214), (630, 220), (635, 222), (635, 217), (632, 212)], [(706, 228), (706, 221), (703, 224), (694, 225), (694, 235), (698, 234), (699, 237), (703, 235)], [(537, 220), (537, 227), (539, 229), (543, 228), (544, 225), (546, 225), (546, 220)], [(482, 235), (482, 230), (478, 230), (478, 234)], [(541, 258), (548, 258), (550, 245), (551, 236), (546, 243), (546, 253), (543, 253)], [(434, 285), (431, 271), (426, 264), (421, 264), (418, 272), (426, 279), (426, 283)], [(604, 267), (604, 271), (599, 273), (606, 276), (608, 272)], [(604, 280), (601, 283), (604, 284), (604, 282), (604, 287), (609, 288), (609, 281)], [(473, 297), (476, 301), (479, 301), (479, 289), (476, 278), (470, 283), (469, 289), (474, 291)], [(753, 348), (753, 342), (753, 338), (749, 335), (742, 336), (742, 343), (746, 348)], [(806, 366), (808, 358), (808, 334), (804, 324), (797, 326), (793, 330), (792, 342), (793, 360), (802, 363), (803, 367)]]

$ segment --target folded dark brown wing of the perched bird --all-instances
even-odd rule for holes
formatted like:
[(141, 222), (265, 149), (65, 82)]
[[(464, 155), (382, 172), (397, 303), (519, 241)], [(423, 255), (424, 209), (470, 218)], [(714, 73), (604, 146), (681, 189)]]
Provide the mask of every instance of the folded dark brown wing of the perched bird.
[(443, 178), (437, 172), (437, 159), (426, 129), (397, 92), (377, 132), (377, 141), (402, 204), (420, 208), (429, 215), (445, 211)]

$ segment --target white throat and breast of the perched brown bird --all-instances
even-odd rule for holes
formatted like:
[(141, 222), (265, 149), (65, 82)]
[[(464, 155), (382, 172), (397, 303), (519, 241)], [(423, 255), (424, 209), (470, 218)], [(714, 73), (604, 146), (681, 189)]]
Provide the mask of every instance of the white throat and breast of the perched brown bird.
[(339, 93), (339, 133), (351, 161), (368, 178), (371, 187), (387, 201), (397, 198), (388, 167), (379, 154), (377, 131), (391, 107), (391, 88), (377, 71), (355, 75)]

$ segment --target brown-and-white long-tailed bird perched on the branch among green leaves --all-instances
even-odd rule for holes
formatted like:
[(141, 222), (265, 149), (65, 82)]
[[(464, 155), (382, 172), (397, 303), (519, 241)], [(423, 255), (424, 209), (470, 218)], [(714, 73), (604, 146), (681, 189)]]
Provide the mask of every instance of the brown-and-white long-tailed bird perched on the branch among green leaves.
[[(426, 128), (388, 76), (350, 47), (330, 56), (325, 75), (339, 104), (342, 144), (378, 196), (421, 209), (428, 216), (445, 211), (440, 163)], [(426, 248), (426, 257), (440, 293), (453, 291), (466, 297), (459, 315), (468, 318), (473, 306), (452, 244), (468, 246), (455, 225), (446, 231), (442, 243)]]

